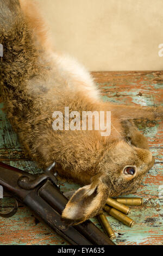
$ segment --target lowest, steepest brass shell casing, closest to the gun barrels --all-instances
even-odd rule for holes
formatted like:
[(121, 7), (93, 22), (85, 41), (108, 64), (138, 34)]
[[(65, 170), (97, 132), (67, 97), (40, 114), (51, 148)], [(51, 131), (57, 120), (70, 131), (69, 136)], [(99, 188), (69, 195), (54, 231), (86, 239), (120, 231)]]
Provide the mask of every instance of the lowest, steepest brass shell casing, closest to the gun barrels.
[(110, 239), (115, 239), (116, 235), (114, 233), (114, 231), (111, 228), (111, 225), (109, 224), (107, 218), (105, 217), (105, 215), (103, 213), (98, 215), (98, 220), (102, 225), (103, 230), (105, 231), (105, 234), (108, 235), (110, 237)]

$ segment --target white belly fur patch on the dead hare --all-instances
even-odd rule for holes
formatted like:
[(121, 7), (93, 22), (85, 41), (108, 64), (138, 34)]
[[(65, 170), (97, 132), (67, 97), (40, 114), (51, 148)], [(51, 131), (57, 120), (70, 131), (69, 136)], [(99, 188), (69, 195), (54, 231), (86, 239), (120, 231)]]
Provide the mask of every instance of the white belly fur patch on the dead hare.
[(98, 100), (99, 92), (93, 78), (76, 59), (67, 54), (59, 55), (50, 51), (44, 53), (43, 59), (41, 56), (38, 62), (47, 65), (48, 75), (42, 80), (40, 77), (32, 78), (27, 85), (30, 93), (45, 94), (53, 90), (53, 95), (55, 95), (54, 89), (57, 93), (64, 93), (68, 90), (73, 93), (82, 92), (91, 99)]

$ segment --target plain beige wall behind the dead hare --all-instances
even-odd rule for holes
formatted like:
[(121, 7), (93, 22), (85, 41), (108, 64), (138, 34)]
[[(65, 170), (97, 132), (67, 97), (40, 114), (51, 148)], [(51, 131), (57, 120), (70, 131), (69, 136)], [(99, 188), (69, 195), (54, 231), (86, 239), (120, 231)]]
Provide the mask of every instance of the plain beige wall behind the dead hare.
[(59, 51), (89, 70), (162, 70), (162, 0), (37, 0)]

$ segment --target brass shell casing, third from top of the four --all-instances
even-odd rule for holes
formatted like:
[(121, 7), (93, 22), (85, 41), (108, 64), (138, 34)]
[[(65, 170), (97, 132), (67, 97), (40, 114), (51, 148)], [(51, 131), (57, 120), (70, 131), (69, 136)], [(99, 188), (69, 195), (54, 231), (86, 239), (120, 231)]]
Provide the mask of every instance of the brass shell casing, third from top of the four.
[(112, 217), (116, 218), (118, 221), (121, 221), (122, 223), (128, 225), (128, 227), (132, 227), (135, 223), (135, 221), (133, 221), (128, 216), (122, 214), (122, 212), (118, 211), (117, 209), (111, 208), (108, 205), (104, 206), (104, 210), (108, 212), (108, 214), (110, 214)]

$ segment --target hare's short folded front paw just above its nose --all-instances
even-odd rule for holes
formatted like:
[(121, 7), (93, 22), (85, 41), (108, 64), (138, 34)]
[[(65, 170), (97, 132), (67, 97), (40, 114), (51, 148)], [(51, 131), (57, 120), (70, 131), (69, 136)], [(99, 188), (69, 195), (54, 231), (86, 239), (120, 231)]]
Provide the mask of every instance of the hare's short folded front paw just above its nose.
[(122, 126), (126, 138), (132, 145), (137, 148), (149, 149), (147, 138), (143, 136), (139, 130), (137, 130), (133, 120), (122, 121)]

